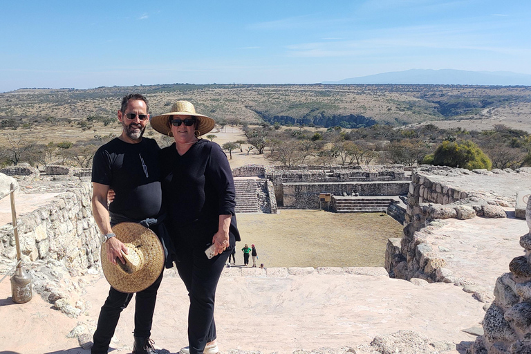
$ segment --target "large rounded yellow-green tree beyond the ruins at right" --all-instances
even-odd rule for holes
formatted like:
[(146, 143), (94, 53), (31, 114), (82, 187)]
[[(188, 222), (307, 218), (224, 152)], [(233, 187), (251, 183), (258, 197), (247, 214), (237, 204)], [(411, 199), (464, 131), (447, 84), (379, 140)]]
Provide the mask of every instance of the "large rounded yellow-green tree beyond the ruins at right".
[(432, 165), (460, 167), (463, 169), (491, 169), (490, 158), (470, 140), (443, 141), (434, 152)]

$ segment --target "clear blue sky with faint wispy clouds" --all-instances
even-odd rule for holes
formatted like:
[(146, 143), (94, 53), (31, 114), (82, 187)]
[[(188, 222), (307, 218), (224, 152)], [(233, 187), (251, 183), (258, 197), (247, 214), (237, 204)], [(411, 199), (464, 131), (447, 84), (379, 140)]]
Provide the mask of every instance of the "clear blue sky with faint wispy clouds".
[(0, 13), (0, 92), (531, 74), (528, 0), (20, 0)]

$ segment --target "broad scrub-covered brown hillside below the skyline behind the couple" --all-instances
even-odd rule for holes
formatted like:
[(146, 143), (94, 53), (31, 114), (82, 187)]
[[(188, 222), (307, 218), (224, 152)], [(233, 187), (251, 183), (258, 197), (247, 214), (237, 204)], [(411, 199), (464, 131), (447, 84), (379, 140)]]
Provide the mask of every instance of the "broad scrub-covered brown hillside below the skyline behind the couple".
[(120, 100), (131, 92), (149, 98), (153, 116), (167, 113), (176, 100), (189, 100), (198, 112), (223, 124), (360, 128), (487, 118), (496, 124), (531, 122), (531, 86), (160, 84), (87, 90), (26, 88), (0, 93), (0, 140), (4, 134), (1, 129), (20, 127), (36, 133), (32, 127), (40, 123), (79, 123), (80, 129), (90, 129), (92, 122), (111, 124)]

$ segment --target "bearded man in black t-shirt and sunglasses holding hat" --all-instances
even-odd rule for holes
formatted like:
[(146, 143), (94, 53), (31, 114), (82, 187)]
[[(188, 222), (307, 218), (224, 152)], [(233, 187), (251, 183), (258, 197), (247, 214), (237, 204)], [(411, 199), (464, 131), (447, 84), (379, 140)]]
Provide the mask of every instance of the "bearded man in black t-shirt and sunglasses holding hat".
[[(117, 258), (125, 263), (122, 251), (128, 253), (127, 247), (113, 234), (111, 225), (153, 220), (162, 208), (158, 173), (160, 148), (155, 140), (142, 138), (149, 121), (146, 97), (140, 94), (123, 97), (118, 120), (122, 122), (122, 134), (97, 150), (92, 168), (93, 215), (102, 232), (102, 247), (106, 247), (113, 264)], [(115, 197), (107, 209), (109, 189), (113, 189)], [(160, 281), (162, 273), (153, 285), (136, 293), (133, 354), (156, 353), (149, 337)], [(111, 287), (97, 321), (91, 354), (107, 353), (120, 313), (132, 297), (133, 294)]]

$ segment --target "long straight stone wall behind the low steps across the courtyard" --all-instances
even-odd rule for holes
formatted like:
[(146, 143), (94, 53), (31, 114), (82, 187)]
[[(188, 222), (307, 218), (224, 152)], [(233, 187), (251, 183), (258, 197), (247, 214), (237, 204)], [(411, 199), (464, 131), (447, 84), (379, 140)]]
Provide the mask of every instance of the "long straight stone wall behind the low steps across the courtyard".
[(409, 182), (373, 183), (283, 183), (283, 206), (294, 209), (319, 209), (319, 194), (341, 196), (357, 192), (360, 196), (398, 196), (406, 194)]

